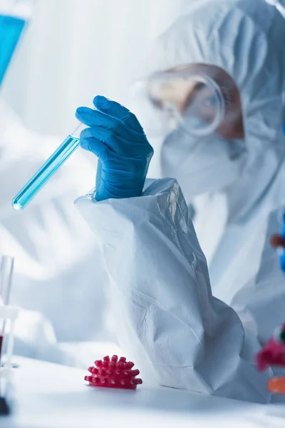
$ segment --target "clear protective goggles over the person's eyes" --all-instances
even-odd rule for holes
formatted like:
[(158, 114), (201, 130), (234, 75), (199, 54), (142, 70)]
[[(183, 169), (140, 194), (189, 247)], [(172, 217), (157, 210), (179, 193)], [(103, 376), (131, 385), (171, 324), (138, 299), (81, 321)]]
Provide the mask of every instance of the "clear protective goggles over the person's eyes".
[(218, 83), (205, 70), (182, 66), (147, 78), (147, 96), (153, 106), (170, 113), (193, 136), (214, 133), (223, 121), (238, 114), (231, 103), (231, 91), (238, 92), (237, 86), (229, 79)]

